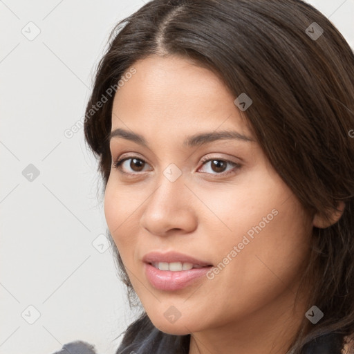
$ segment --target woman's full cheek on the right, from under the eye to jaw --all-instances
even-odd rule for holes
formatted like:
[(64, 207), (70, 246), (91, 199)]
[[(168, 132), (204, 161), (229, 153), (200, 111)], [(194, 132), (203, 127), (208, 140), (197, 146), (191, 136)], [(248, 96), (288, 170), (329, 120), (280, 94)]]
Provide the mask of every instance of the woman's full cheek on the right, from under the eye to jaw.
[[(296, 286), (308, 260), (310, 217), (278, 178), (250, 180), (242, 189), (204, 194), (216, 217), (205, 216), (205, 235), (221, 271), (214, 284), (248, 306)], [(217, 236), (217, 237), (215, 237)], [(234, 250), (236, 246), (237, 250)], [(234, 250), (234, 252), (232, 252)], [(228, 257), (228, 258), (227, 258)], [(232, 259), (230, 261), (230, 258)]]

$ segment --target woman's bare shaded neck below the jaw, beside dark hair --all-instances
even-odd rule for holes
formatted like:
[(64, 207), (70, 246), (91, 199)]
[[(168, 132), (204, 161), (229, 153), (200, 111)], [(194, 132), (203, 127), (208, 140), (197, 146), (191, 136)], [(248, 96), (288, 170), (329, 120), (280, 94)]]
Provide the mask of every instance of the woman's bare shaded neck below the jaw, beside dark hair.
[(189, 354), (290, 354), (308, 310), (306, 302), (297, 299), (295, 304), (295, 293), (286, 290), (242, 319), (192, 333)]

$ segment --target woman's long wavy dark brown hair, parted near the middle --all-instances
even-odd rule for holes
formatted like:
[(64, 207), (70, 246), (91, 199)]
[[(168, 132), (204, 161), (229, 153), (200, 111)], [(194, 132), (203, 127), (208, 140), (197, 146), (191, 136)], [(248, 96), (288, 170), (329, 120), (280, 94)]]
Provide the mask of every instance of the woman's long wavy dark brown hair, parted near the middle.
[[(250, 129), (310, 215), (326, 217), (338, 201), (345, 203), (337, 223), (313, 227), (303, 274), (302, 284), (312, 286), (308, 308), (315, 304), (324, 317), (312, 325), (304, 314), (289, 347), (307, 353), (321, 336), (334, 334), (331, 353), (340, 353), (354, 333), (353, 50), (321, 12), (300, 0), (146, 3), (111, 32), (86, 107), (84, 134), (104, 187), (111, 171), (112, 88), (118, 91), (134, 63), (149, 55), (192, 60), (218, 75), (235, 98), (243, 92), (252, 97), (244, 112)], [(109, 239), (129, 304), (137, 306), (110, 234)], [(189, 339), (160, 332), (142, 311), (117, 353), (188, 353)]]

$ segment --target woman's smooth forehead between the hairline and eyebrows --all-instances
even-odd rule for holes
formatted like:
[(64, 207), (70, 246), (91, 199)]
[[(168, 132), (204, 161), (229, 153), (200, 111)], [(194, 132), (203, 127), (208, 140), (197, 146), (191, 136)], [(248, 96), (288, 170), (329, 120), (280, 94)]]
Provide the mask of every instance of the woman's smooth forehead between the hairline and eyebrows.
[[(118, 127), (171, 132), (237, 128), (250, 135), (234, 95), (207, 68), (181, 57), (147, 57), (118, 89), (112, 130)], [(124, 127), (124, 128), (127, 128)]]

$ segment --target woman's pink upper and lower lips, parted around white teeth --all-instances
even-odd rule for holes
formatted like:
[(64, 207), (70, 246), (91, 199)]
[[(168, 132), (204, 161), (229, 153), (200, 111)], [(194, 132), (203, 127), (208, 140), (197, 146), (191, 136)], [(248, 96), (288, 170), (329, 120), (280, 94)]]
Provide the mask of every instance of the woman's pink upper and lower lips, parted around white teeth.
[[(178, 252), (149, 252), (142, 258), (145, 262), (145, 274), (151, 285), (159, 290), (171, 291), (180, 290), (192, 284), (196, 279), (203, 277), (212, 268), (210, 262), (201, 261), (187, 254)], [(193, 268), (191, 270), (180, 270), (172, 272), (171, 270), (159, 270), (151, 263), (153, 262), (181, 262), (201, 265), (204, 268)]]

